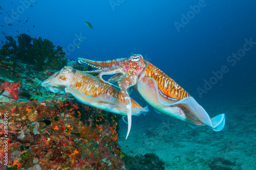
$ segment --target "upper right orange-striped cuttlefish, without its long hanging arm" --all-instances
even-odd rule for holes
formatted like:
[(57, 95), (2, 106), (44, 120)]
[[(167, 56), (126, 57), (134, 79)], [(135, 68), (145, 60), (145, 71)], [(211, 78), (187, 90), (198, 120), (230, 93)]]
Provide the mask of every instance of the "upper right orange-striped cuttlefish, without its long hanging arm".
[[(133, 55), (132, 58), (142, 57), (141, 55)], [(130, 58), (131, 58), (130, 57)], [(78, 58), (79, 62), (88, 63), (91, 66), (98, 68), (98, 71), (112, 73), (117, 64), (120, 72), (115, 72), (114, 78), (108, 80), (114, 83), (117, 78), (126, 76), (126, 68), (123, 68), (123, 63), (130, 62), (130, 58), (122, 58), (109, 61), (93, 61)], [(107, 64), (106, 64), (107, 63)], [(225, 114), (219, 114), (210, 118), (207, 112), (200, 106), (195, 99), (188, 94), (178, 83), (168, 77), (163, 71), (154, 66), (152, 63), (143, 60), (141, 67), (137, 67), (137, 81), (132, 82), (133, 88), (142, 96), (142, 98), (154, 108), (158, 113), (163, 113), (167, 116), (176, 118), (189, 124), (192, 128), (197, 128), (203, 125), (211, 127), (214, 131), (221, 131), (225, 126)], [(127, 63), (125, 64), (127, 65)], [(142, 70), (142, 71), (140, 71)], [(94, 71), (94, 72), (97, 72)], [(129, 76), (129, 75), (128, 75)], [(102, 77), (99, 77), (104, 81)], [(126, 78), (129, 80), (129, 78)], [(120, 86), (121, 84), (118, 83)]]

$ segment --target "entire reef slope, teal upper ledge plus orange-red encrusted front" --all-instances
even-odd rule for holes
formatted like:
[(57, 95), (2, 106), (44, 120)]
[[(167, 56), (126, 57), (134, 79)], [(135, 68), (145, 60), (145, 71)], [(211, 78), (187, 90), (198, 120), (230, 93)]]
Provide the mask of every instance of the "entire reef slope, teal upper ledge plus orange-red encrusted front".
[(120, 115), (41, 87), (56, 70), (38, 72), (7, 59), (0, 56), (0, 86), (20, 82), (22, 88), (18, 102), (0, 96), (0, 140), (7, 143), (7, 151), (0, 148), (0, 169), (126, 169), (118, 144)]

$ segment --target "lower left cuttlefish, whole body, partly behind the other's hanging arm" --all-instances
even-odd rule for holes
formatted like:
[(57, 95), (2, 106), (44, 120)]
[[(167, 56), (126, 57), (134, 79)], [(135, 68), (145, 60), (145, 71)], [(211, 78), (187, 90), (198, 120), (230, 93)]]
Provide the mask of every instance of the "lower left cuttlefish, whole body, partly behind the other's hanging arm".
[[(120, 89), (73, 67), (63, 67), (41, 85), (54, 93), (71, 93), (82, 104), (127, 116), (125, 99)], [(131, 107), (132, 115), (138, 116), (148, 111), (147, 107), (142, 108), (133, 99)]]

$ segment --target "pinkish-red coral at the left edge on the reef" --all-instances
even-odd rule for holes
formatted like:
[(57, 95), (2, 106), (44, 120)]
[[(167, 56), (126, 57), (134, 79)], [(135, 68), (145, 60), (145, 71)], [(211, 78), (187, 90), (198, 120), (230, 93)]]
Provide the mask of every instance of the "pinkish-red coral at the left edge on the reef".
[(6, 81), (0, 88), (5, 90), (2, 95), (11, 95), (14, 100), (18, 100), (19, 89), (22, 88), (22, 85), (20, 82), (11, 84), (10, 82)]

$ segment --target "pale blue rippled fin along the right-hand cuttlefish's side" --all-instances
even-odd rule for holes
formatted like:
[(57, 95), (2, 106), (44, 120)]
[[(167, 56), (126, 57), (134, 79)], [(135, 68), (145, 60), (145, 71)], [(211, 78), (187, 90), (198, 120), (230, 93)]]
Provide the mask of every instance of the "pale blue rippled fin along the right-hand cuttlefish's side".
[(174, 101), (170, 100), (168, 98), (165, 98), (159, 91), (156, 80), (146, 77), (144, 78), (145, 81), (148, 81), (151, 83), (151, 85), (155, 86), (155, 90), (158, 94), (158, 100), (162, 105), (165, 106), (173, 106), (182, 104), (185, 106), (191, 113), (191, 116), (197, 118), (200, 120), (203, 124), (211, 127), (215, 131), (221, 131), (224, 128), (225, 125), (225, 114), (219, 114), (215, 117), (210, 118), (208, 113), (204, 110), (202, 106), (200, 106), (193, 97), (188, 96), (182, 100)]

